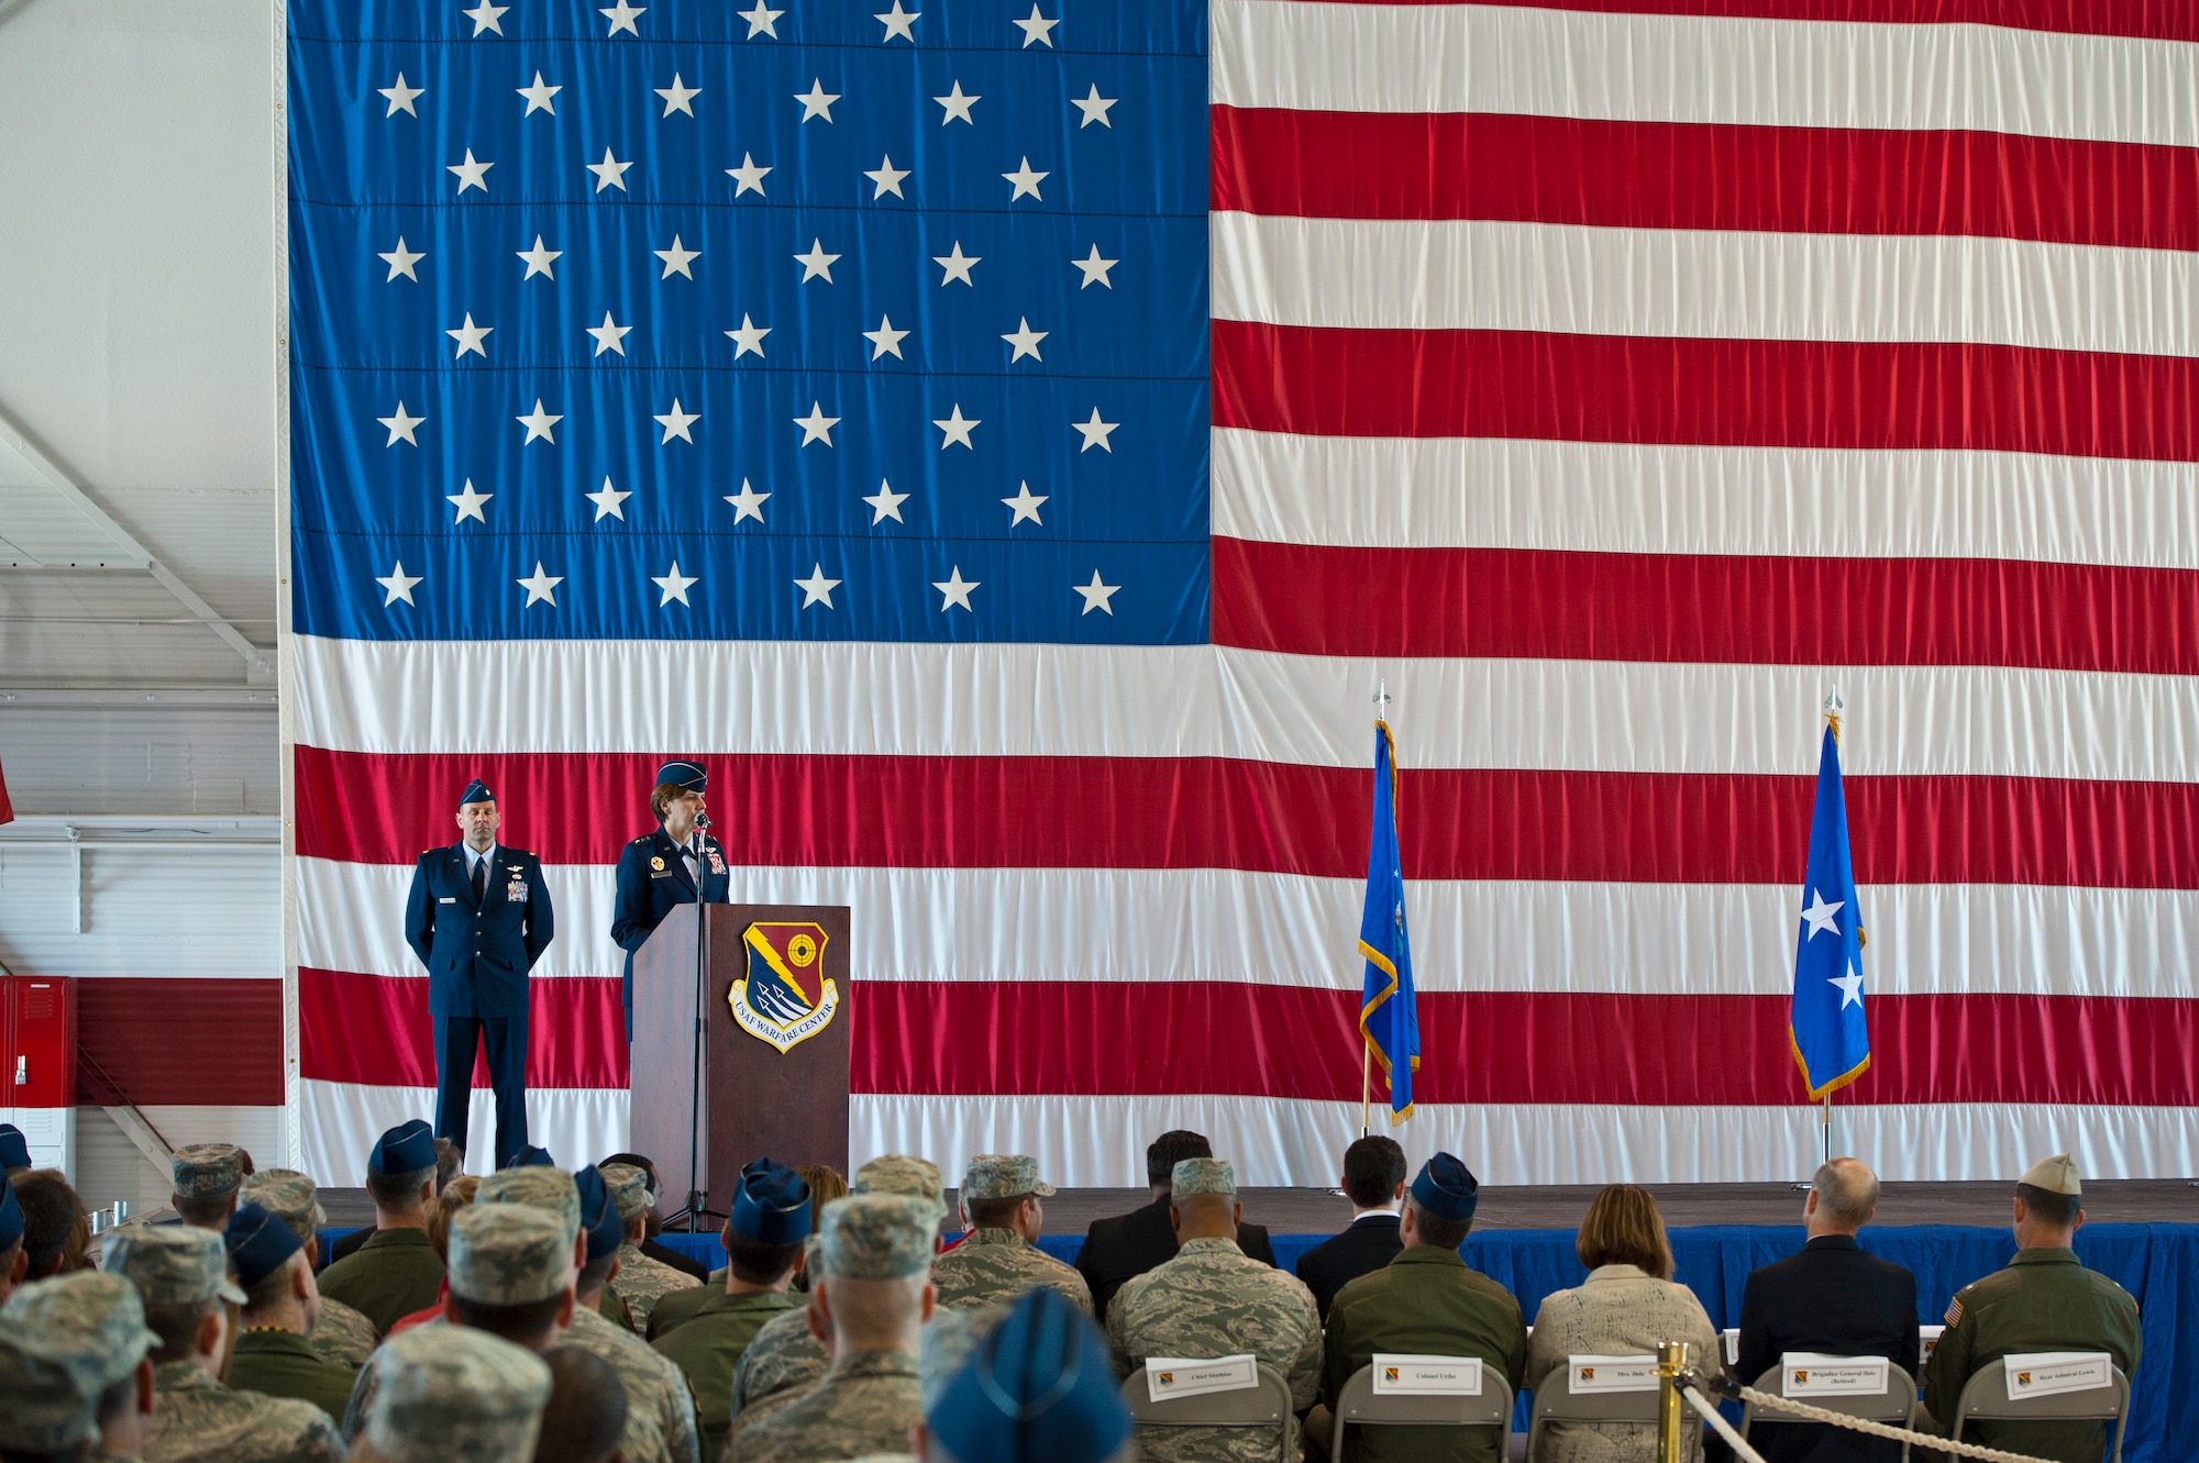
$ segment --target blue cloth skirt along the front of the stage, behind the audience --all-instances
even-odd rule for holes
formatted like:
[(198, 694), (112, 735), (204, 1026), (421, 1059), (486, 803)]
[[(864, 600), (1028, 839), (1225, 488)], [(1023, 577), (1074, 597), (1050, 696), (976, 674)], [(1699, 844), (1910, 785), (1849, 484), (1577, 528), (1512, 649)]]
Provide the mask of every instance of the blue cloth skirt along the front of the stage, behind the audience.
[[(1326, 1235), (1275, 1235), (1275, 1261), (1297, 1257)], [(715, 1235), (664, 1235), (662, 1241), (710, 1267), (726, 1263)], [(1062, 1261), (1078, 1257), (1082, 1235), (1045, 1235), (1040, 1248)], [(1757, 1265), (1794, 1254), (1797, 1226), (1700, 1226), (1671, 1230), (1678, 1281), (1695, 1292), (1711, 1325), (1742, 1318), (1742, 1285)], [(1955, 1292), (2008, 1263), (2016, 1241), (2008, 1230), (1918, 1224), (1863, 1230), (1863, 1248), (1918, 1278), (1918, 1322), (1944, 1318)], [(1541, 1298), (1588, 1278), (1572, 1252), (1572, 1230), (1484, 1230), (1460, 1250), (1467, 1263), (1515, 1296), (1528, 1320)], [(2137, 1296), (2146, 1351), (2131, 1377), (2129, 1463), (2199, 1463), (2199, 1224), (2089, 1224), (2076, 1237), (2078, 1257)], [(1524, 1404), (1522, 1404), (1524, 1408)], [(1526, 1428), (1526, 1412), (1515, 1421)]]

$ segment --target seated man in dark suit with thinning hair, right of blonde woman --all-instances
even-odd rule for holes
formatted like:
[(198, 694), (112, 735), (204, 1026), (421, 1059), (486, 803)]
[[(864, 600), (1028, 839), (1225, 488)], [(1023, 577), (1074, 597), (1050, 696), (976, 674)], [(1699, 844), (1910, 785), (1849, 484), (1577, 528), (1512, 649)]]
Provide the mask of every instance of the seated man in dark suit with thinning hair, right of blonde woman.
[[(1788, 1351), (1882, 1355), (1918, 1375), (1918, 1281), (1856, 1243), (1874, 1213), (1878, 1175), (1867, 1164), (1834, 1158), (1816, 1171), (1801, 1208), (1810, 1241), (1742, 1289), (1742, 1382), (1755, 1386)], [(1823, 1423), (1759, 1421), (1748, 1441), (1768, 1463), (1900, 1459), (1900, 1443)]]

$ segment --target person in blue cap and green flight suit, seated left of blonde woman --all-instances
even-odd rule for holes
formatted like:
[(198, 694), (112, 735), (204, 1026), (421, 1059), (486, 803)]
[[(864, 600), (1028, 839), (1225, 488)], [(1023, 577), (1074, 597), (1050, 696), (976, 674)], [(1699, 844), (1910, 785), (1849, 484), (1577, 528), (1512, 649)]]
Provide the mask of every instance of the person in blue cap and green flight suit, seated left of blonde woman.
[[(1478, 1204), (1473, 1171), (1449, 1153), (1436, 1153), (1421, 1166), (1405, 1199), (1399, 1221), (1405, 1248), (1337, 1292), (1322, 1366), (1326, 1406), (1308, 1419), (1313, 1441), (1324, 1450), (1344, 1384), (1372, 1364), (1377, 1351), (1478, 1355), (1487, 1375), (1504, 1377), (1517, 1391), (1526, 1366), (1520, 1303), (1458, 1257)], [(1506, 1448), (1506, 1434), (1491, 1428), (1357, 1428), (1344, 1441), (1344, 1456), (1363, 1463), (1502, 1463)]]

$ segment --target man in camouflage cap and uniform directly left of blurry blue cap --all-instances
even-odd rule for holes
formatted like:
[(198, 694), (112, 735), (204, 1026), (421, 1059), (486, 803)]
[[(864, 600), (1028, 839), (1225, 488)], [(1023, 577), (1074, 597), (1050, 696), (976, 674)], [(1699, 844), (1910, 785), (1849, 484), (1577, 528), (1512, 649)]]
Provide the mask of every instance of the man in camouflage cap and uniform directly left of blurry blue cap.
[(932, 1314), (939, 1206), (858, 1193), (825, 1213), (809, 1325), (831, 1338), (818, 1384), (732, 1434), (728, 1463), (822, 1463), (908, 1445), (921, 1421), (917, 1329)]

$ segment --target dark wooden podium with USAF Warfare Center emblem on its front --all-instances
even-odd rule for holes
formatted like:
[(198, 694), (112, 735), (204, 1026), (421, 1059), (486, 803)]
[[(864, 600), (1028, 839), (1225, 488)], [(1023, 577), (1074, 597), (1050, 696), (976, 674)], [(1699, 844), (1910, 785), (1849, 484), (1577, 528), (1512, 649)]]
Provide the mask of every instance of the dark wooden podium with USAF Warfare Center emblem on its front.
[[(752, 925), (765, 927), (761, 945), (776, 938), (785, 947), (789, 925), (814, 925), (825, 936), (800, 969), (789, 962), (805, 953), (800, 931), (792, 958), (778, 949), (778, 969), (796, 975), (809, 1002), (825, 997), (825, 982), (833, 995), (831, 1017), (783, 1052), (743, 1028), (732, 1004), (750, 960), (770, 958), (750, 947)], [(679, 905), (633, 953), (633, 1151), (655, 1160), (662, 1202), (673, 1204), (686, 1180), (690, 1195), (699, 1191), (706, 1208), (723, 1213), (741, 1166), (765, 1153), (847, 1173), (847, 905)], [(770, 1021), (759, 1030), (785, 1039)]]

